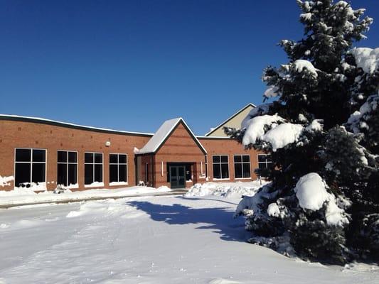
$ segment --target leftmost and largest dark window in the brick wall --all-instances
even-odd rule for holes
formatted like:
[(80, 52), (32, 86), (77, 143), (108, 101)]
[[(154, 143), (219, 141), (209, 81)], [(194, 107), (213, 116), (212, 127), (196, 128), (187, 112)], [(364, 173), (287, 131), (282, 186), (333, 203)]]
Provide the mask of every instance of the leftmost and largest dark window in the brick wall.
[(46, 150), (18, 148), (14, 160), (16, 187), (35, 187), (46, 182)]

